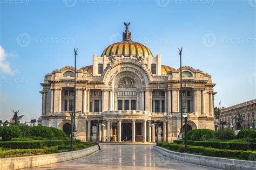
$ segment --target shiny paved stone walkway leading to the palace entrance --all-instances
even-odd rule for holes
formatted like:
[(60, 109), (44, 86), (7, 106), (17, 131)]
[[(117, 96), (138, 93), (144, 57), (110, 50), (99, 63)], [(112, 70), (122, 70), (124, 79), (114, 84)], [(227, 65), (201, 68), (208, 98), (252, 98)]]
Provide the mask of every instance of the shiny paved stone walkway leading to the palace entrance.
[(166, 158), (151, 145), (102, 145), (87, 157), (30, 169), (215, 169)]

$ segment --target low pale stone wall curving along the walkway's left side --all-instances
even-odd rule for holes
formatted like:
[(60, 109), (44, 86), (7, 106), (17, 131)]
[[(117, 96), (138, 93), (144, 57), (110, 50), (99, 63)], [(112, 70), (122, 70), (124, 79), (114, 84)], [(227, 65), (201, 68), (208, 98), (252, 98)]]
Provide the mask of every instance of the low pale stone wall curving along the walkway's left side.
[(98, 151), (98, 146), (92, 146), (84, 150), (72, 152), (43, 154), (28, 157), (1, 158), (0, 169), (21, 169), (55, 164), (58, 162), (82, 158), (96, 151)]

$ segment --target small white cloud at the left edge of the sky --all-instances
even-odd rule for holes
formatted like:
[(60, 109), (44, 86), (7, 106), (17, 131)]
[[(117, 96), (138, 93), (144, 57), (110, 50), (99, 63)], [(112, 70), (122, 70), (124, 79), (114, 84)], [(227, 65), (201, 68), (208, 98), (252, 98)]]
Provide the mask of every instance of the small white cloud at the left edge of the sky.
[(14, 75), (16, 70), (11, 68), (10, 63), (6, 60), (12, 54), (6, 53), (4, 48), (0, 45), (0, 70), (2, 74)]

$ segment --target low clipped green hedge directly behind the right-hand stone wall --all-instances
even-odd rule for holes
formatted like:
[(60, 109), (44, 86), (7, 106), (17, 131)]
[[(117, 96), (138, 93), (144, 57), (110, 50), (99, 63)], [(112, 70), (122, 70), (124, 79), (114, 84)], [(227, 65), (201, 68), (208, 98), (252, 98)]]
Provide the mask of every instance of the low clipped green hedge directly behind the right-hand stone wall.
[[(243, 160), (254, 160), (256, 157), (255, 151), (221, 150), (219, 148), (190, 145), (187, 147), (189, 153), (206, 155), (210, 157), (237, 158)], [(169, 150), (184, 152), (184, 145), (173, 143), (169, 145)]]

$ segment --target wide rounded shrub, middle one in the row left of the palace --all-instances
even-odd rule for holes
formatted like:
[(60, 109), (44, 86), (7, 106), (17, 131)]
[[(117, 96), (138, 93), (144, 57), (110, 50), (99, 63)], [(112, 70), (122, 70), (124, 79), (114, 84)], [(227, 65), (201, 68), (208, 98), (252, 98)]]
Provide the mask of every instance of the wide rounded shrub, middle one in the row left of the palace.
[(29, 133), (31, 134), (31, 136), (38, 136), (48, 139), (52, 139), (54, 137), (54, 133), (52, 132), (51, 128), (42, 125), (30, 127)]

